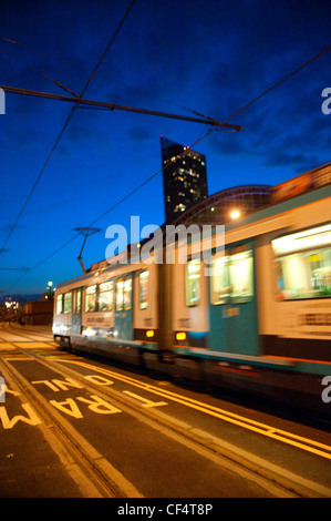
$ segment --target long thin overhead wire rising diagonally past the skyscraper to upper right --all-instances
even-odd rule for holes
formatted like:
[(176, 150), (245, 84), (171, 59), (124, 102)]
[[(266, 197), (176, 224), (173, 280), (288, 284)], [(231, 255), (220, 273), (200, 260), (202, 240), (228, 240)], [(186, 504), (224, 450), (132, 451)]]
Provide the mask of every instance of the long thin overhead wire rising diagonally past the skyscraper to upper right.
[[(280, 84), (282, 84), (285, 81), (289, 80), (291, 76), (293, 76), (294, 74), (297, 74), (298, 72), (300, 72), (302, 69), (304, 69), (306, 67), (308, 67), (310, 63), (312, 63), (314, 60), (317, 60), (318, 58), (320, 58), (321, 55), (323, 55), (324, 53), (327, 53), (328, 51), (331, 50), (331, 47), (328, 47), (325, 48), (323, 51), (319, 52), (318, 54), (316, 54), (312, 59), (310, 59), (309, 61), (307, 61), (303, 65), (299, 67), (298, 69), (296, 69), (294, 71), (292, 71), (290, 74), (288, 74), (287, 76), (285, 76), (283, 79), (281, 79), (280, 81), (278, 81), (277, 83), (275, 83), (272, 86), (270, 86), (269, 89), (267, 89), (266, 91), (263, 91), (261, 94), (259, 94), (258, 96), (256, 96), (254, 100), (251, 100), (249, 103), (245, 104), (241, 109), (239, 109), (238, 111), (236, 111), (234, 114), (231, 114), (230, 116), (228, 116), (226, 120), (224, 120), (224, 123), (226, 123), (227, 121), (229, 121), (230, 119), (235, 118), (236, 115), (238, 115), (240, 112), (242, 112), (244, 110), (248, 109), (249, 106), (251, 106), (254, 103), (256, 103), (258, 100), (260, 100), (261, 98), (263, 98), (265, 95), (267, 95), (268, 93), (270, 93), (272, 90), (275, 90), (277, 86), (279, 86)], [(194, 146), (196, 146), (196, 144), (198, 144), (199, 142), (204, 141), (206, 137), (208, 137), (213, 132), (219, 130), (217, 126), (214, 127), (214, 129), (209, 129), (208, 132), (206, 132), (206, 134), (204, 134), (201, 137), (197, 139), (192, 145), (190, 145), (190, 149), (193, 149)], [(184, 153), (184, 152), (183, 152)], [(182, 154), (179, 154), (182, 155)], [(145, 186), (148, 182), (151, 182), (153, 178), (155, 178), (161, 172), (164, 171), (164, 167), (162, 167), (161, 170), (158, 170), (156, 173), (154, 173), (153, 175), (151, 175), (147, 180), (145, 180), (143, 183), (141, 183), (138, 186), (136, 186), (136, 188), (134, 188), (133, 191), (131, 191), (130, 193), (127, 193), (124, 197), (122, 197), (117, 203), (115, 203), (113, 206), (111, 206), (107, 211), (103, 212), (103, 214), (101, 214), (97, 218), (95, 218), (92, 223), (90, 223), (89, 226), (92, 226), (93, 224), (97, 223), (99, 221), (101, 221), (105, 215), (107, 215), (108, 213), (111, 213), (113, 210), (115, 210), (118, 205), (121, 205), (124, 201), (126, 201), (127, 198), (130, 198), (134, 193), (136, 193), (138, 190), (141, 190), (143, 186)], [(68, 246), (70, 243), (72, 243), (76, 237), (79, 237), (80, 234), (76, 234), (74, 237), (70, 238), (69, 241), (66, 241), (62, 246), (60, 246), (59, 248), (56, 248), (53, 253), (51, 253), (50, 255), (48, 255), (45, 258), (43, 258), (42, 260), (40, 260), (37, 265), (34, 265), (32, 268), (30, 268), (29, 273), (33, 269), (35, 269), (38, 266), (40, 266), (41, 264), (45, 263), (46, 260), (49, 260), (50, 258), (52, 258), (54, 255), (56, 255), (56, 253), (59, 253), (61, 249), (63, 249), (65, 246)], [(8, 289), (10, 289), (11, 287), (15, 286), (23, 277), (25, 277), (27, 274), (23, 274), (18, 280), (15, 280)]]

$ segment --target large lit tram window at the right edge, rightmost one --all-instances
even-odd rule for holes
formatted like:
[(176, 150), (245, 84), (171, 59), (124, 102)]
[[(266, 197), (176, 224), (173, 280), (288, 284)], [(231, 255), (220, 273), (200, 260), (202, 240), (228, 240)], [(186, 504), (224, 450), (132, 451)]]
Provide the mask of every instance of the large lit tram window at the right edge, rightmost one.
[(331, 225), (272, 241), (281, 300), (331, 296)]

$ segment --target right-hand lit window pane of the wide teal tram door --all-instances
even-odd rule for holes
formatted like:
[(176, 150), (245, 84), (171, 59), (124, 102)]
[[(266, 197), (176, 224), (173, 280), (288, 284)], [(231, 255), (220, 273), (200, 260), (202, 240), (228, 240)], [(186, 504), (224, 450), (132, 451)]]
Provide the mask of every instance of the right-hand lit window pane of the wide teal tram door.
[(237, 253), (230, 256), (231, 302), (246, 303), (254, 296), (252, 252)]

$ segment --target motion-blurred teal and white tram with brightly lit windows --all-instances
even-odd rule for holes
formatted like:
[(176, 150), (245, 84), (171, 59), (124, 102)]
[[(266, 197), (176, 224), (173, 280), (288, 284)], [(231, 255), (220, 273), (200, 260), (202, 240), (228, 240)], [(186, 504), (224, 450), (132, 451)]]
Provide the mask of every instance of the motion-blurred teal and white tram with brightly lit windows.
[(120, 258), (59, 285), (55, 341), (330, 416), (331, 164), (310, 174), (328, 182), (225, 226), (211, 274), (198, 239), (185, 264)]

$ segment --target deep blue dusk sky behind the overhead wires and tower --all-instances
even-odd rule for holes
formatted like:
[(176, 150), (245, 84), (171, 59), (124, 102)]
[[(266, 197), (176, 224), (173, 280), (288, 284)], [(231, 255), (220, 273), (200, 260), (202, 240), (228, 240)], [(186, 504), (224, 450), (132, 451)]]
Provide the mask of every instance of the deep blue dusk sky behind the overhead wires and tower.
[[(2, 0), (0, 84), (71, 95), (42, 72), (81, 94), (130, 3)], [(223, 122), (330, 47), (330, 25), (328, 0), (136, 0), (84, 98)], [(62, 248), (76, 227), (101, 228), (84, 249), (90, 267), (105, 258), (110, 225), (130, 228), (137, 215), (141, 227), (162, 225), (161, 134), (189, 146), (201, 139), (194, 149), (207, 157), (209, 194), (275, 185), (330, 162), (325, 88), (331, 51), (230, 119), (240, 132), (209, 135), (208, 124), (77, 109), (41, 176), (72, 104), (7, 93), (0, 292), (41, 294), (48, 280), (81, 275), (83, 237)]]

